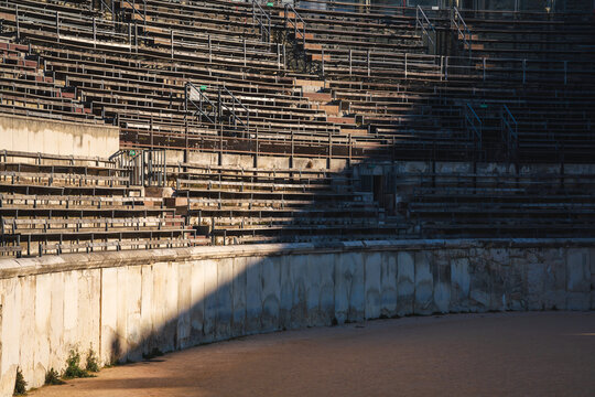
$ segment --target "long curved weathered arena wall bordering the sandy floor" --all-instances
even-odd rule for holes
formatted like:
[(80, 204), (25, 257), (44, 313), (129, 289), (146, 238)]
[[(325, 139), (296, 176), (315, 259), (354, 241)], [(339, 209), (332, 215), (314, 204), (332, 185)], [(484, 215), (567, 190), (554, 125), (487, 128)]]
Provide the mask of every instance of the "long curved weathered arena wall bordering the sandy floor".
[(0, 395), (104, 364), (381, 316), (595, 309), (595, 239), (199, 247), (0, 260)]

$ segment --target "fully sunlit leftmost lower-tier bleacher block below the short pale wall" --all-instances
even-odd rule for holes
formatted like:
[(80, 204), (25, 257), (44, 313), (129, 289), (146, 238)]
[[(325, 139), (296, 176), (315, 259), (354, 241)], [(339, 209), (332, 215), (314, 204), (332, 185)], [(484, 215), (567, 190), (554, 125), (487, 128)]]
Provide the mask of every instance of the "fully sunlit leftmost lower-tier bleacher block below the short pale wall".
[(206, 243), (108, 160), (2, 152), (0, 253), (43, 255)]

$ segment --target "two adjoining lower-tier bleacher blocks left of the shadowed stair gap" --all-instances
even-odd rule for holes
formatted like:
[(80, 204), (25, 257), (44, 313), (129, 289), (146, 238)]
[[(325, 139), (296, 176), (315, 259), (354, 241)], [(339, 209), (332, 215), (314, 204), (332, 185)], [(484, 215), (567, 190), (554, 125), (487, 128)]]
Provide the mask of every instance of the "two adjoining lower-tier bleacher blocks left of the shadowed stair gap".
[[(140, 154), (142, 155), (142, 154)], [(349, 173), (169, 163), (153, 197), (117, 161), (3, 152), (2, 254), (388, 238), (404, 232)]]

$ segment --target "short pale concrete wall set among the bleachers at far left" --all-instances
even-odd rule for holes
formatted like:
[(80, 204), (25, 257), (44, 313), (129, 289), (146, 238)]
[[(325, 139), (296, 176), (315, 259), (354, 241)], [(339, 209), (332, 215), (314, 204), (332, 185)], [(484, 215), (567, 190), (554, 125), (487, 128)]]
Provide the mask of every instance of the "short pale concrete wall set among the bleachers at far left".
[(119, 128), (22, 116), (0, 116), (0, 150), (108, 158), (120, 147)]

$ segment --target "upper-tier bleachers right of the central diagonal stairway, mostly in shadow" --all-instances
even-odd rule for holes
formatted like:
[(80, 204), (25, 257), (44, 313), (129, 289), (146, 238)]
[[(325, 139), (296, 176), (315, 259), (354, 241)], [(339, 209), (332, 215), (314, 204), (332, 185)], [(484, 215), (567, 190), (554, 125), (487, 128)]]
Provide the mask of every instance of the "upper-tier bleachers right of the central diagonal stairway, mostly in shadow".
[[(310, 1), (300, 2), (300, 7), (302, 3)], [(416, 46), (400, 49), (400, 42), (415, 39), (415, 17), (401, 13), (405, 9), (387, 15), (387, 10), (361, 14), (300, 7), (296, 11), (300, 21), (305, 22), (306, 33), (302, 40), (304, 33), (298, 32), (296, 42), (302, 43), (307, 56), (324, 64), (325, 90), (334, 100), (347, 101), (351, 110), (363, 115), (368, 130), (387, 135), (401, 129), (399, 138), (468, 144), (466, 104), (495, 110), (486, 115), (486, 125), (490, 118), (499, 122), (502, 105), (507, 105), (518, 122), (515, 149), (520, 151), (521, 161), (549, 161), (561, 149), (574, 161), (591, 161), (595, 149), (591, 111), (595, 104), (595, 24), (591, 19), (575, 22), (572, 18), (576, 15), (570, 15), (572, 23), (564, 23), (540, 20), (543, 14), (509, 19), (506, 14), (482, 12), (482, 17), (489, 14), (491, 19), (469, 19), (472, 45), (477, 45), (469, 58), (461, 36), (459, 56), (424, 55), (419, 36)], [(280, 15), (291, 20), (295, 14), (285, 10)], [(451, 21), (441, 18), (435, 18), (436, 25), (442, 24), (451, 34)], [(363, 39), (366, 34), (361, 31), (378, 21), (385, 29), (398, 26), (399, 33)], [(488, 28), (482, 30), (480, 22)], [(497, 39), (489, 39), (493, 34)], [(480, 36), (488, 39), (482, 42)], [(387, 45), (392, 45), (393, 58), (382, 66)], [(490, 132), (488, 127), (484, 133), (478, 157), (501, 159), (499, 152), (506, 142), (500, 131)]]

